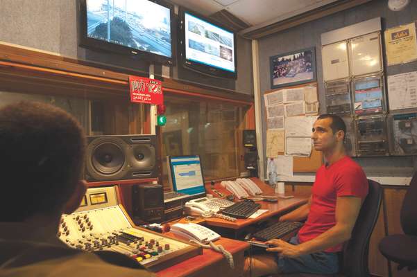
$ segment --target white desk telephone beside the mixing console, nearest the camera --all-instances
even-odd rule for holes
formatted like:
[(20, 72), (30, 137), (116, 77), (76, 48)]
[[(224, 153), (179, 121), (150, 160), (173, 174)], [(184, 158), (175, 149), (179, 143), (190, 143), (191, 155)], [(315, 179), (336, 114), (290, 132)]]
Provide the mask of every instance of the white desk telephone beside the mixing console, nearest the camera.
[(189, 240), (198, 240), (199, 242), (208, 243), (220, 238), (220, 235), (205, 226), (195, 223), (176, 223), (171, 226), (171, 232), (187, 238)]

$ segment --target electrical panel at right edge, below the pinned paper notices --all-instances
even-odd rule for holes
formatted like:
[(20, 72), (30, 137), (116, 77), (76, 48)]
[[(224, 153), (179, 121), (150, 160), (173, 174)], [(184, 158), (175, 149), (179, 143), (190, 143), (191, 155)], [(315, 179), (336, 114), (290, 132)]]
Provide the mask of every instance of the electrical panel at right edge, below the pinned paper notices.
[(417, 154), (417, 113), (389, 116), (390, 152), (405, 156)]

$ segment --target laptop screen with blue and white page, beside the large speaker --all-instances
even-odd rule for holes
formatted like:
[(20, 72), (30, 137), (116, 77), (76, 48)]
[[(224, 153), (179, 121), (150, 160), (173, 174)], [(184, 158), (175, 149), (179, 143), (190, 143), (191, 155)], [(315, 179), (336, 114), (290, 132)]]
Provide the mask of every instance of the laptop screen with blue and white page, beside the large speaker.
[(173, 191), (191, 195), (193, 199), (205, 197), (203, 170), (200, 156), (167, 157), (169, 182)]

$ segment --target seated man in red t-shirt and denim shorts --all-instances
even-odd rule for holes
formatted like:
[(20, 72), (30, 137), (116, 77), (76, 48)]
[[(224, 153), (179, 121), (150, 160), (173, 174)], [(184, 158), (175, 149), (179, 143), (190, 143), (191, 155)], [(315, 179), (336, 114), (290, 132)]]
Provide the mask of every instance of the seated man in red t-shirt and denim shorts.
[(346, 125), (339, 116), (318, 116), (312, 129), (314, 149), (323, 152), (325, 164), (316, 172), (309, 202), (280, 217), (280, 221), (306, 220), (289, 242), (269, 240), (273, 255), (246, 259), (251, 276), (276, 273), (334, 274), (339, 270), (338, 252), (350, 239), (368, 181), (360, 166), (346, 156)]

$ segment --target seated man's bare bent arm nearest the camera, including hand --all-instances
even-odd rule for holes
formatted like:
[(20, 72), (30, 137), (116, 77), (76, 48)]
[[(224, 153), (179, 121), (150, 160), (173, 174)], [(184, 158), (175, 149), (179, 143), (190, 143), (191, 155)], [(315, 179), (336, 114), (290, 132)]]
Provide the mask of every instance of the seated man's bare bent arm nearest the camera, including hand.
[(282, 256), (298, 257), (323, 251), (329, 247), (334, 247), (337, 244), (346, 242), (346, 240), (350, 239), (360, 209), (361, 198), (352, 196), (337, 197), (336, 225), (321, 235), (318, 235), (313, 240), (298, 245), (292, 245), (283, 240), (269, 240), (266, 243), (275, 244), (277, 247), (267, 250), (278, 252)]

